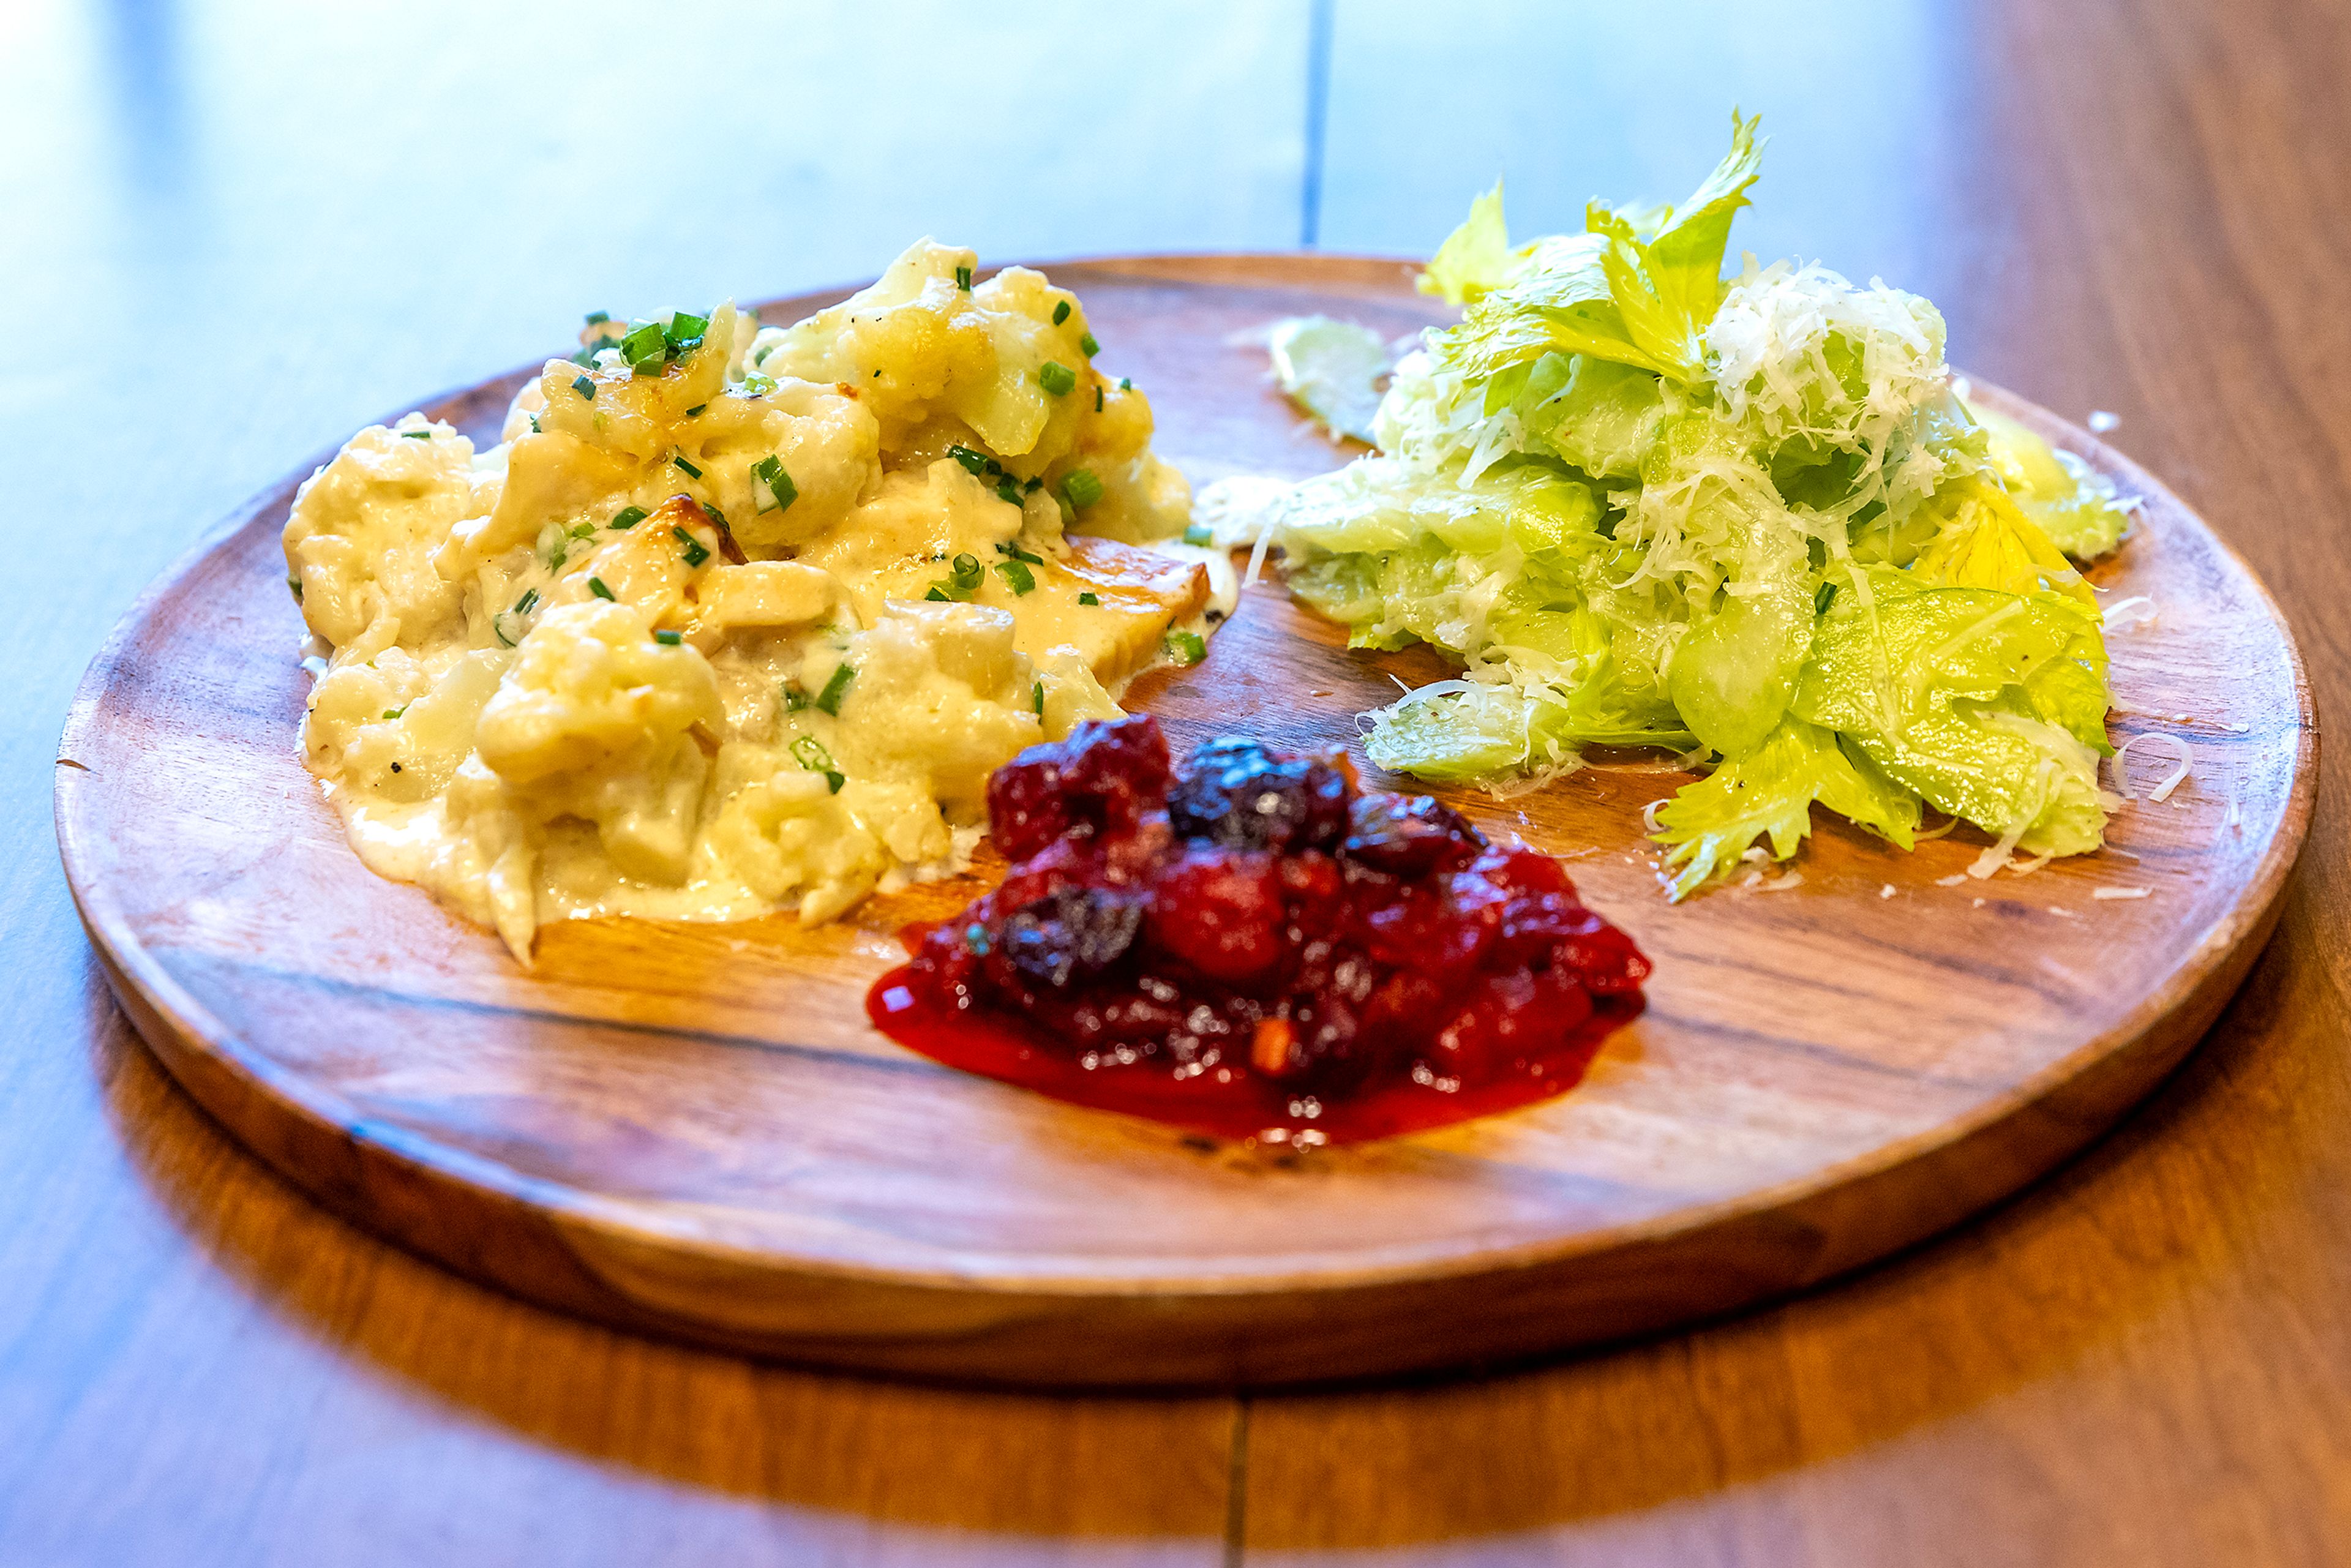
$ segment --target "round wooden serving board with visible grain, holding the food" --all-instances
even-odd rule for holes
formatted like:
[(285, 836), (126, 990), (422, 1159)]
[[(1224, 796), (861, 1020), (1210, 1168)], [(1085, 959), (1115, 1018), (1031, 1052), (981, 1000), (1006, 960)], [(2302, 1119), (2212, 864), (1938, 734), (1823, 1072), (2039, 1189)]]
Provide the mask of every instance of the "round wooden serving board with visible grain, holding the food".
[[(1324, 310), (1434, 317), (1392, 261), (1051, 268), (1194, 484), (1345, 461), (1248, 334)], [(839, 294), (785, 301), (790, 320)], [(527, 371), (428, 411), (477, 440)], [(2278, 609), (2201, 520), (2081, 430), (1977, 388), (2146, 498), (2092, 578), (2114, 733), (2193, 748), (2111, 846), (1961, 879), (1961, 832), (1895, 853), (1817, 813), (1801, 884), (1657, 891), (1601, 766), (1488, 832), (1568, 856), (1657, 964), (1573, 1093), (1312, 1154), (1215, 1145), (898, 1051), (863, 1013), (891, 933), (980, 875), (842, 924), (557, 924), (536, 973), (346, 849), (296, 757), (308, 677), (277, 531), (310, 463), (139, 602), (82, 682), (56, 778), (66, 875), (165, 1065), (341, 1213), (510, 1291), (811, 1363), (1025, 1385), (1255, 1385), (1608, 1340), (1784, 1293), (2012, 1192), (2109, 1126), (2212, 1023), (2278, 914), (2318, 736)], [(1204, 665), (1131, 705), (1324, 745), (1427, 654), (1349, 656), (1272, 585)], [(2170, 769), (2137, 748), (2139, 788)], [(2097, 891), (2144, 889), (2144, 898)]]

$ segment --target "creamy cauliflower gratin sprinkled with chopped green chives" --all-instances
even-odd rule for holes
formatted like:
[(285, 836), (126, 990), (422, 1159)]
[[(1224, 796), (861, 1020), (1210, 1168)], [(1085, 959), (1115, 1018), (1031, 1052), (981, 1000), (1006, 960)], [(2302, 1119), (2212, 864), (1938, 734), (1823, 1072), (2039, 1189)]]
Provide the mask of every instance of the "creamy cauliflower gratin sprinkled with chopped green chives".
[(1230, 609), (1096, 348), (926, 240), (792, 327), (590, 317), (487, 451), (355, 435), (284, 529), (353, 849), (522, 961), (548, 919), (813, 924), (957, 870), (992, 769)]

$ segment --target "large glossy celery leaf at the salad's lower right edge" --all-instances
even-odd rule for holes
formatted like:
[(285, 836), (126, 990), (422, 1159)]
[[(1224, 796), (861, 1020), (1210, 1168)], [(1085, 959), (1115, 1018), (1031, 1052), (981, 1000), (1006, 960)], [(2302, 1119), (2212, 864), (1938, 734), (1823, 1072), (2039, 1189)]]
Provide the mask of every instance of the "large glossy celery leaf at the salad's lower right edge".
[(2102, 745), (2106, 698), (2083, 651), (2097, 609), (2050, 592), (1923, 588), (1890, 569), (1864, 583), (1867, 595), (1838, 592), (1820, 618), (1791, 712), (1987, 832), (2017, 830), (2029, 851), (2095, 849), (2106, 811), (2099, 748), (2083, 731)]

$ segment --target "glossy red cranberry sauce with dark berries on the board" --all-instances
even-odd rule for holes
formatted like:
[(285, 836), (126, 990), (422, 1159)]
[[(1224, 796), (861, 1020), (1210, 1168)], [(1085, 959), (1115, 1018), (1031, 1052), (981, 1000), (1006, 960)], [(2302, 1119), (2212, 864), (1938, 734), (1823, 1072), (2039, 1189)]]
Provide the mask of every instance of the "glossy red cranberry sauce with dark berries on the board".
[(910, 926), (868, 1016), (1041, 1093), (1225, 1138), (1345, 1143), (1561, 1093), (1648, 959), (1566, 872), (1342, 759), (1081, 724), (987, 785), (1004, 884)]

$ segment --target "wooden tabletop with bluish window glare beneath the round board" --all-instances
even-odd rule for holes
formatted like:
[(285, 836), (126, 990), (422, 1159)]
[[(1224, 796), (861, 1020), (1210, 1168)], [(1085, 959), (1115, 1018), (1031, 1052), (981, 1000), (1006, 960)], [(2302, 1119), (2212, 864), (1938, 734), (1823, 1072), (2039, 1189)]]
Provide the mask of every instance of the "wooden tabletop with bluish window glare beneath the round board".
[[(1737, 242), (1921, 289), (1954, 360), (2116, 411), (2285, 602), (2332, 722), (2339, 12), (743, 7), (656, 45), (621, 7), (315, 9), (0, 12), (0, 1561), (2351, 1559), (2339, 759), (2236, 1006), (2003, 1211), (1697, 1333), (1248, 1401), (752, 1366), (390, 1251), (162, 1079), (49, 835), (73, 682), (209, 517), (585, 308), (872, 273), (924, 228), (1425, 249), (1495, 167), (1568, 226), (1679, 195), (1733, 99), (1777, 136)], [(976, 21), (983, 52), (893, 54)]]

